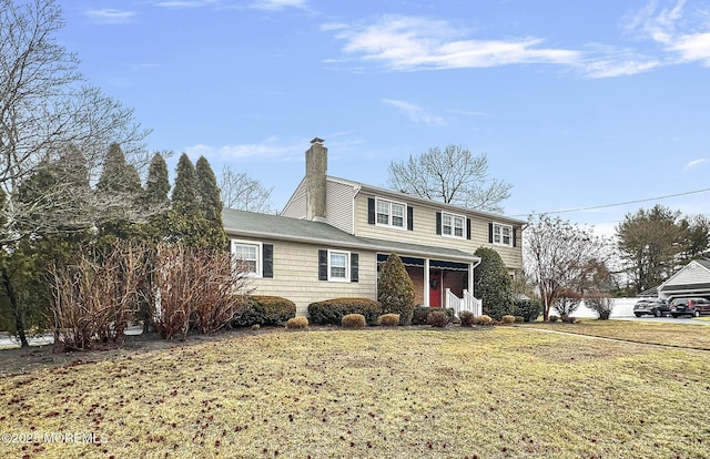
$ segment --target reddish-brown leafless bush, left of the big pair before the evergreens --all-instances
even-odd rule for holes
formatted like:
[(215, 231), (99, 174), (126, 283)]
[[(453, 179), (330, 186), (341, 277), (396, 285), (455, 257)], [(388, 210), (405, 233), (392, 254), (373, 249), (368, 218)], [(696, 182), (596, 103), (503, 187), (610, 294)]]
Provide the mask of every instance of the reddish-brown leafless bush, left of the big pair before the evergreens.
[(58, 343), (88, 349), (93, 341), (115, 341), (123, 335), (141, 300), (144, 254), (142, 245), (115, 242), (105, 253), (81, 249), (75, 264), (50, 265)]

